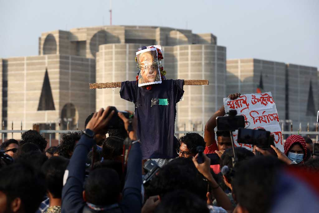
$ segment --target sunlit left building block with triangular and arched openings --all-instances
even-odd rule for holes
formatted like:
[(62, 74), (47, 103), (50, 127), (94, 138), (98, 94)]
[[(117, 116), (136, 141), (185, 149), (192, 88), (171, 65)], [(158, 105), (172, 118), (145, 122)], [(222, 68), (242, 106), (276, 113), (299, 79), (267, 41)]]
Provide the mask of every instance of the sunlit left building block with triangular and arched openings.
[[(95, 110), (95, 60), (70, 55), (2, 59), (2, 120), (7, 129), (75, 129)], [(5, 94), (6, 93), (6, 94)], [(20, 133), (15, 133), (19, 138)]]

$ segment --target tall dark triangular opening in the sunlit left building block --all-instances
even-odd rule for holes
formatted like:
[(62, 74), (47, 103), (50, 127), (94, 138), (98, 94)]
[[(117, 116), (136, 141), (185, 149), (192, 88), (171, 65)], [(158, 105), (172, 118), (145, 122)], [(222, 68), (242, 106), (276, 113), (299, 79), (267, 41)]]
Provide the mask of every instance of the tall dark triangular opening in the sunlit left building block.
[(50, 86), (50, 80), (48, 75), (48, 69), (45, 70), (40, 101), (38, 106), (38, 111), (41, 110), (55, 110), (53, 96)]

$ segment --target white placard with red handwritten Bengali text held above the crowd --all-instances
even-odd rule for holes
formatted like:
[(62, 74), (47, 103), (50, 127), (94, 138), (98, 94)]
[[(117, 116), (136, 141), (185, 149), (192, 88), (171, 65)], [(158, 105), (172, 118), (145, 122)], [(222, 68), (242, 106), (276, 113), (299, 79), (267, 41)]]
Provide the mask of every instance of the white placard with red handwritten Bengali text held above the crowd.
[[(235, 100), (224, 98), (225, 112), (237, 110), (237, 115), (243, 115), (245, 128), (258, 129), (263, 128), (270, 131), (275, 136), (275, 146), (284, 151), (281, 128), (276, 109), (276, 104), (272, 98), (271, 92), (254, 93), (241, 95)], [(233, 132), (235, 146), (252, 149), (250, 144), (239, 144), (237, 142), (238, 131)]]

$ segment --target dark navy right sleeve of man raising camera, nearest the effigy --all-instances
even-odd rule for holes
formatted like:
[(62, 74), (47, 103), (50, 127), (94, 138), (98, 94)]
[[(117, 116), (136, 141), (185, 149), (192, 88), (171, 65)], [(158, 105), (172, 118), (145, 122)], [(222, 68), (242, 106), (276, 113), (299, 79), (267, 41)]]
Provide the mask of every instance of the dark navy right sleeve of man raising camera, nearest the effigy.
[(142, 151), (139, 143), (131, 147), (128, 162), (123, 199), (120, 204), (124, 213), (142, 210)]

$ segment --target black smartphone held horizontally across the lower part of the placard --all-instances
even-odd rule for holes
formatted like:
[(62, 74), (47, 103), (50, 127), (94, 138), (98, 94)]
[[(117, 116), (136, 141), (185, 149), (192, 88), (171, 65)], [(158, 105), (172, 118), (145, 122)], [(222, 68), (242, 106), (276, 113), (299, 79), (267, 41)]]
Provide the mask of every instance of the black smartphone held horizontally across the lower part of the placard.
[(270, 132), (264, 129), (238, 129), (238, 143), (256, 145), (259, 148), (271, 148), (274, 138), (270, 137)]

